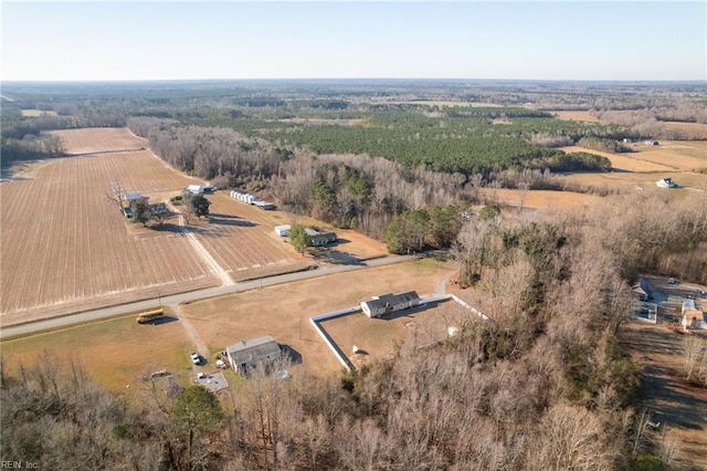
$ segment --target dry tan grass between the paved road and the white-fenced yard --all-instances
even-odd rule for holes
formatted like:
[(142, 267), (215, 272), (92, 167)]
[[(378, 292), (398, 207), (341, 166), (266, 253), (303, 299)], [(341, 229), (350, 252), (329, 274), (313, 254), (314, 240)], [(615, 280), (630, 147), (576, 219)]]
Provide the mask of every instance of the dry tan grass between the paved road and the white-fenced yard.
[(181, 311), (211, 353), (271, 334), (299, 353), (305, 368), (326, 375), (339, 371), (341, 365), (309, 317), (358, 305), (376, 294), (433, 293), (453, 270), (452, 264), (433, 260), (397, 263), (194, 302)]

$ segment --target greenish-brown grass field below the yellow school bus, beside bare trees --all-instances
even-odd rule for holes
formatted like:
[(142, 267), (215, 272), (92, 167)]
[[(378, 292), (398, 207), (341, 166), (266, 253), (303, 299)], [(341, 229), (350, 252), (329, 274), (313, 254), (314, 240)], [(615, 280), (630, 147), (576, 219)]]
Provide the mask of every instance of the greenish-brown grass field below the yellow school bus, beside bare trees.
[(68, 362), (76, 362), (91, 379), (127, 395), (138, 394), (144, 387), (138, 379), (156, 370), (167, 368), (182, 384), (192, 376), (189, 353), (193, 345), (178, 321), (143, 325), (129, 315), (4, 341), (0, 347), (2, 366), (10, 375), (17, 375), (20, 365), (34, 365), (46, 353), (68, 375)]

